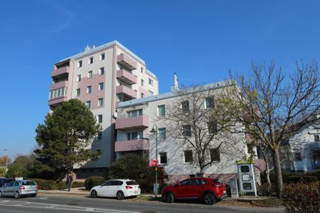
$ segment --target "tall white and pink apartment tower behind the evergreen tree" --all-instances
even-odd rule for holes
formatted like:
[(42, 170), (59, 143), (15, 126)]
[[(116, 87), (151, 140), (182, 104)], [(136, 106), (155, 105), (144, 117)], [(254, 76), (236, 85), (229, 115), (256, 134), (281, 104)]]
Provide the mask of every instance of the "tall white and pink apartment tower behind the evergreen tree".
[(70, 56), (54, 65), (51, 72), (50, 111), (68, 99), (77, 98), (87, 104), (102, 126), (91, 145), (101, 150), (98, 160), (87, 162), (78, 170), (77, 178), (105, 175), (114, 160), (114, 121), (120, 102), (158, 94), (156, 75), (147, 70), (144, 60), (116, 40)]

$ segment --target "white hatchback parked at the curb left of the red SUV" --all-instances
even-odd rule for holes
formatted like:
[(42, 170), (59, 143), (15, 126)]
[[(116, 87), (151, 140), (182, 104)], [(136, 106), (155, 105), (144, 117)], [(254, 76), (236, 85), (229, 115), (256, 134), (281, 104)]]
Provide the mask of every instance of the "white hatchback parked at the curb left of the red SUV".
[(118, 200), (122, 200), (124, 197), (137, 197), (140, 192), (139, 184), (135, 180), (117, 179), (92, 187), (90, 195), (92, 198), (117, 197)]

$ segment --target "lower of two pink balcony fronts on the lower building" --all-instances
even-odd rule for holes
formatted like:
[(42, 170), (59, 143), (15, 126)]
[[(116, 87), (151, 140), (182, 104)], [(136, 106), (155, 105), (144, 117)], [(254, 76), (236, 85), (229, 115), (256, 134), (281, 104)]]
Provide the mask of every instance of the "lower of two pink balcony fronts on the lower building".
[(147, 139), (137, 139), (132, 141), (117, 141), (115, 143), (114, 151), (140, 151), (149, 150), (149, 141)]

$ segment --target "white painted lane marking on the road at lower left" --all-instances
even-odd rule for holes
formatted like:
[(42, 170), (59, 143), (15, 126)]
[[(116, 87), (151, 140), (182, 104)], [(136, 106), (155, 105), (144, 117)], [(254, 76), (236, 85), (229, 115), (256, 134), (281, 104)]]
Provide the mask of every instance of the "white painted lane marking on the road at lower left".
[(78, 212), (104, 212), (104, 213), (139, 213), (139, 212), (130, 212), (122, 211), (117, 209), (98, 209), (92, 207), (75, 207), (69, 205), (60, 205), (60, 204), (48, 204), (40, 202), (23, 202), (23, 201), (11, 201), (1, 200), (0, 206), (9, 206), (9, 207), (23, 207), (23, 208), (41, 208), (41, 209), (61, 209), (61, 210), (70, 210)]

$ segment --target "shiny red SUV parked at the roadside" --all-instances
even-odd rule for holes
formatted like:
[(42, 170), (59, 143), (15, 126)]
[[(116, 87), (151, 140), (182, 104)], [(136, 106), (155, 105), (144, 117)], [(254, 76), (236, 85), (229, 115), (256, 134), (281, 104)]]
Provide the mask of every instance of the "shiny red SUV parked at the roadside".
[(214, 204), (217, 200), (227, 197), (225, 185), (217, 179), (190, 178), (178, 182), (174, 186), (162, 190), (164, 202), (174, 202), (179, 199), (200, 199), (205, 204)]

